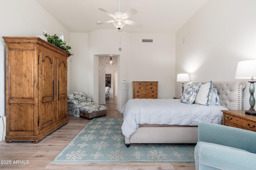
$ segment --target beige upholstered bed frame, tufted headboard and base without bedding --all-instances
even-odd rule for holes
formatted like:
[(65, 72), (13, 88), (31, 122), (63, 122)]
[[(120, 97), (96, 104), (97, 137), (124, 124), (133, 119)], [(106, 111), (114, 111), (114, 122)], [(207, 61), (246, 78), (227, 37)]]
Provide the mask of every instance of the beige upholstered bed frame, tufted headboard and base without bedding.
[[(213, 87), (218, 89), (220, 105), (230, 110), (242, 110), (245, 86), (245, 82), (213, 82)], [(197, 141), (197, 126), (140, 125), (130, 139), (125, 137), (126, 147), (129, 147), (130, 143), (197, 143)]]

